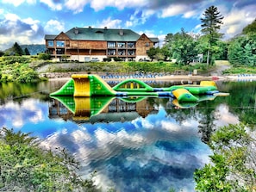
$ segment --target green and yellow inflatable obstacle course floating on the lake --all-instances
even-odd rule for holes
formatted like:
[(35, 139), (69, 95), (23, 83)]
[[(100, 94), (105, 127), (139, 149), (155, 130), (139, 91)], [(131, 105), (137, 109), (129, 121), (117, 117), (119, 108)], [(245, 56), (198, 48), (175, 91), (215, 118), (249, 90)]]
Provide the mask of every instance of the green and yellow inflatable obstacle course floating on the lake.
[[(51, 96), (172, 96), (178, 102), (199, 102), (199, 96), (219, 94), (214, 81), (201, 81), (200, 85), (183, 84), (169, 88), (153, 88), (138, 79), (127, 79), (111, 88), (97, 75), (72, 75), (66, 84)], [(194, 96), (196, 95), (196, 96)]]

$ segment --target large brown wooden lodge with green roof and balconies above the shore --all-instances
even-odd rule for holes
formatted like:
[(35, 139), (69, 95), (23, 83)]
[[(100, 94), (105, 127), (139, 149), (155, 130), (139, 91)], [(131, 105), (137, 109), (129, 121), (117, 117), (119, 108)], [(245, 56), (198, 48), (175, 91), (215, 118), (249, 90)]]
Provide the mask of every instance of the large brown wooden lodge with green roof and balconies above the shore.
[(72, 28), (66, 33), (46, 34), (47, 53), (52, 59), (103, 61), (120, 58), (123, 61), (149, 59), (147, 50), (158, 46), (158, 38), (136, 34), (130, 29)]

